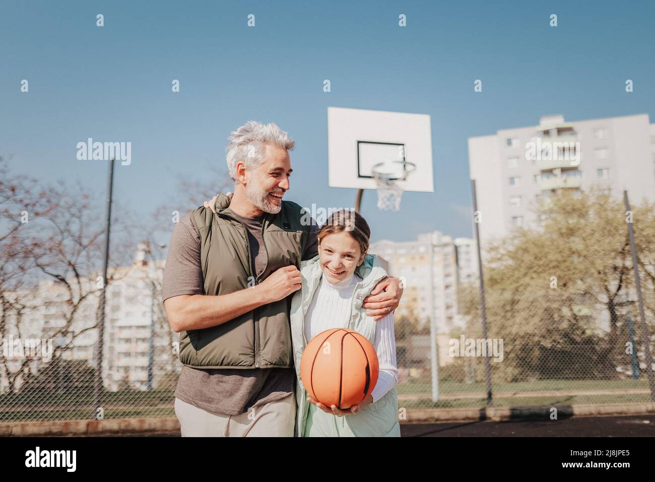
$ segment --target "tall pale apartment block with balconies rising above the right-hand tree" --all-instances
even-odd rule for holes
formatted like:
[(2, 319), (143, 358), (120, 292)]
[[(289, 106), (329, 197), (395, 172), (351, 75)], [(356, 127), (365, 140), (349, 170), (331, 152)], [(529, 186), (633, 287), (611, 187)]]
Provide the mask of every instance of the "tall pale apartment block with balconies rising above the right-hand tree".
[(468, 139), (484, 243), (515, 226), (534, 226), (534, 207), (560, 190), (599, 190), (633, 203), (655, 200), (655, 124), (647, 114), (502, 129)]

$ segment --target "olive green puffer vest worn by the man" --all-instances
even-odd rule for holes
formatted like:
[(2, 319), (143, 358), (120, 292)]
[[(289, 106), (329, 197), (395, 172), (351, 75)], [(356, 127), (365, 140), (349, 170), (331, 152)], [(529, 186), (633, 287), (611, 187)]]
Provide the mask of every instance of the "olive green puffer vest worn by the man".
[[(216, 214), (204, 207), (191, 211), (200, 233), (203, 294), (248, 289), (284, 266), (300, 267), (311, 226), (301, 224), (299, 205), (282, 201), (280, 212), (265, 215), (260, 249), (266, 250), (268, 264), (255, 278), (246, 226), (225, 211), (229, 201), (219, 195)], [(290, 303), (291, 295), (221, 325), (181, 332), (179, 360), (198, 369), (292, 367)]]

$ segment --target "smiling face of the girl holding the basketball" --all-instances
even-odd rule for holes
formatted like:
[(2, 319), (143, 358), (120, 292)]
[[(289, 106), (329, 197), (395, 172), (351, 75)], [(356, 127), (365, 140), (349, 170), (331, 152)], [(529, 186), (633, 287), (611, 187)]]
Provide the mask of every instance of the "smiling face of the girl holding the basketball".
[(319, 262), (330, 283), (350, 277), (364, 261), (365, 252), (348, 231), (327, 234), (318, 241)]

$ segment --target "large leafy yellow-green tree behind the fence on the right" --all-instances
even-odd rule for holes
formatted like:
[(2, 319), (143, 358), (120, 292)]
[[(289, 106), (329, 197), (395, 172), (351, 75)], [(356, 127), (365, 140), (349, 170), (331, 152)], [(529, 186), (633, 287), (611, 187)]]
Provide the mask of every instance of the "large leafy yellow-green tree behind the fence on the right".
[[(618, 378), (629, 368), (626, 316), (637, 320), (635, 283), (622, 200), (592, 190), (541, 203), (538, 228), (518, 228), (485, 256), (489, 338), (504, 339), (495, 380)], [(632, 209), (646, 317), (655, 308), (655, 211)], [(477, 287), (460, 291), (468, 336), (481, 337)], [(638, 350), (643, 355), (637, 328)], [(483, 374), (477, 361), (477, 378)]]

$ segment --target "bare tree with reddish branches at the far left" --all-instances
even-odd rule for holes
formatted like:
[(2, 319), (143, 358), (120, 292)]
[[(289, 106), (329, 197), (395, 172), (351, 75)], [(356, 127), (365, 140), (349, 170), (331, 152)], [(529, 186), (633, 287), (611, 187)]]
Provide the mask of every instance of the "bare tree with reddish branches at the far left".
[[(0, 215), (7, 226), (0, 237), (0, 336), (35, 336), (33, 321), (43, 319), (39, 336), (56, 340), (53, 355), (59, 357), (97, 328), (103, 198), (64, 182), (39, 187), (31, 178), (11, 176), (3, 164), (0, 173)], [(115, 212), (108, 283), (120, 276), (118, 268), (136, 245), (125, 222), (128, 210)], [(35, 369), (31, 361), (26, 357), (16, 366), (0, 354), (11, 392)]]

